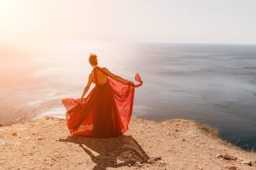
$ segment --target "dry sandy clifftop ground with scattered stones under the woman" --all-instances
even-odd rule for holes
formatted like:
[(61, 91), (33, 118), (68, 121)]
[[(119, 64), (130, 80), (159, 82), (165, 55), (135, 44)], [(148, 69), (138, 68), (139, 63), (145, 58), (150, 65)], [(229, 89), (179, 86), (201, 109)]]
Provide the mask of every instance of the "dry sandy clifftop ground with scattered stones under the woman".
[(202, 129), (211, 132), (186, 119), (131, 119), (123, 136), (89, 138), (44, 117), (0, 127), (0, 170), (256, 170), (254, 152)]

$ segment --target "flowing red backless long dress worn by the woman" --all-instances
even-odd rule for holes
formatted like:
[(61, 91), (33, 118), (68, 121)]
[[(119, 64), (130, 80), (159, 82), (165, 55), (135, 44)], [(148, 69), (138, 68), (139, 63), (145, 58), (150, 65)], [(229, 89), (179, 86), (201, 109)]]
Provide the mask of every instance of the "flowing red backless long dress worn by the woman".
[[(102, 71), (99, 67), (94, 68)], [(105, 73), (106, 74), (106, 73)], [(113, 78), (107, 78), (107, 83), (97, 84), (97, 71), (94, 71), (95, 87), (82, 105), (79, 99), (63, 99), (67, 110), (66, 123), (71, 135), (115, 137), (128, 130), (130, 121), (134, 88), (143, 84), (139, 74), (135, 75), (137, 85), (129, 85)]]

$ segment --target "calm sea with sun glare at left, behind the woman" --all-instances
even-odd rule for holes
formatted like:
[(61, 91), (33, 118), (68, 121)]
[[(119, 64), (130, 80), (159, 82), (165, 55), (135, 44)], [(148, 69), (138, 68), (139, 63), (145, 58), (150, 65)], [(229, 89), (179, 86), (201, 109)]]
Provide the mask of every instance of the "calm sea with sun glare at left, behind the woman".
[[(256, 148), (256, 45), (44, 41), (0, 43), (0, 124), (65, 118), (62, 99), (81, 97), (92, 68), (135, 82), (132, 117), (192, 119)], [(90, 89), (93, 88), (91, 85)]]

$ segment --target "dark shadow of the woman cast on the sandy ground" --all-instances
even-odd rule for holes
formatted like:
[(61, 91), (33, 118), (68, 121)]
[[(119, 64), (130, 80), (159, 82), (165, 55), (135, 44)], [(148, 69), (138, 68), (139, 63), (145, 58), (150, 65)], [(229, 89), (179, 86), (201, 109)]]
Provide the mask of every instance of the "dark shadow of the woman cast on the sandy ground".
[(147, 163), (149, 160), (148, 154), (132, 136), (122, 135), (110, 138), (68, 136), (66, 139), (60, 138), (59, 141), (76, 143), (82, 147), (97, 164), (93, 170), (133, 166), (135, 162)]

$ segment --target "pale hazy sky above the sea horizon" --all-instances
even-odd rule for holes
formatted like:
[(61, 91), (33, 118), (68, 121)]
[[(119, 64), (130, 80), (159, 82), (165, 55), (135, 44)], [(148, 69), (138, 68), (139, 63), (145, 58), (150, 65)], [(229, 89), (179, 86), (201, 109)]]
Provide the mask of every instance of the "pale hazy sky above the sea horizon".
[(256, 44), (256, 0), (0, 0), (0, 40)]

